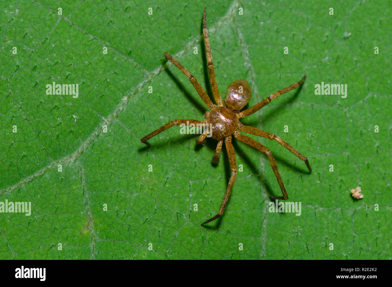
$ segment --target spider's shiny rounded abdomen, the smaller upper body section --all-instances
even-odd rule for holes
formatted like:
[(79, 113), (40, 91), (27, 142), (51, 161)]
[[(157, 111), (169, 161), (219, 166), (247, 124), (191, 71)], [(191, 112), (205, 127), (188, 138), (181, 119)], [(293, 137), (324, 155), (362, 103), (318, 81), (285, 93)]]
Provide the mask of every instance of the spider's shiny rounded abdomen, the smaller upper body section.
[(233, 111), (240, 111), (250, 100), (252, 91), (246, 80), (236, 80), (227, 87), (225, 103)]

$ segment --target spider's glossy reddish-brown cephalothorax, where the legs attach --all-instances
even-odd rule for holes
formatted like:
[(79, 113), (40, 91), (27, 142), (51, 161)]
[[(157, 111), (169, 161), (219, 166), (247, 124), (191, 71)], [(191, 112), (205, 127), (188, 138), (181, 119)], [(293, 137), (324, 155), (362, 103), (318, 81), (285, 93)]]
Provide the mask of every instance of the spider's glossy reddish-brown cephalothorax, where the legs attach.
[(238, 128), (237, 115), (226, 107), (218, 106), (212, 109), (205, 114), (205, 118), (212, 126), (212, 138), (215, 140), (233, 134)]

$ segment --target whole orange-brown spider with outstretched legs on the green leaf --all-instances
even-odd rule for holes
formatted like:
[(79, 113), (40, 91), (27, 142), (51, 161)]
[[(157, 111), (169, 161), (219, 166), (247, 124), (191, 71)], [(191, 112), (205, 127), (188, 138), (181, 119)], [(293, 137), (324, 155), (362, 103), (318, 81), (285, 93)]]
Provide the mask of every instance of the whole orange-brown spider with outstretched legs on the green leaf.
[[(171, 128), (174, 125), (189, 125), (189, 124), (205, 124), (207, 127), (212, 127), (212, 138), (214, 140), (218, 141), (218, 145), (216, 146), (216, 151), (215, 155), (212, 158), (212, 161), (214, 163), (219, 162), (219, 156), (220, 152), (222, 149), (222, 144), (223, 140), (225, 141), (225, 146), (226, 146), (226, 151), (227, 155), (229, 157), (229, 162), (230, 162), (230, 168), (231, 168), (231, 176), (229, 179), (229, 183), (227, 185), (227, 189), (225, 192), (225, 196), (223, 197), (223, 201), (221, 204), (221, 207), (218, 211), (218, 214), (215, 216), (211, 217), (210, 219), (206, 220), (205, 222), (201, 223), (201, 225), (204, 225), (206, 223), (209, 223), (213, 220), (216, 220), (220, 216), (222, 216), (227, 201), (229, 200), (230, 193), (232, 191), (234, 182), (236, 180), (236, 175), (237, 175), (237, 163), (236, 163), (236, 155), (234, 152), (233, 145), (231, 143), (232, 136), (239, 140), (240, 142), (243, 142), (247, 145), (250, 145), (251, 147), (254, 147), (255, 149), (258, 149), (262, 153), (266, 154), (268, 156), (270, 165), (272, 167), (272, 170), (274, 171), (274, 174), (276, 176), (276, 179), (278, 180), (279, 187), (282, 191), (283, 196), (273, 196), (270, 195), (271, 198), (274, 199), (283, 199), (287, 200), (289, 199), (289, 196), (287, 195), (287, 191), (285, 189), (285, 186), (283, 185), (282, 178), (279, 174), (278, 167), (276, 166), (276, 162), (274, 157), (272, 156), (272, 153), (268, 149), (268, 147), (265, 147), (259, 142), (256, 142), (249, 136), (246, 136), (244, 134), (241, 134), (240, 131), (249, 133), (249, 134), (254, 134), (256, 136), (261, 136), (264, 138), (269, 138), (270, 140), (275, 140), (278, 142), (280, 145), (283, 145), (283, 147), (287, 148), (289, 151), (291, 151), (293, 154), (298, 156), (301, 160), (303, 160), (308, 169), (309, 172), (312, 172), (312, 169), (310, 167), (309, 161), (303, 154), (299, 153), (294, 147), (289, 145), (287, 142), (279, 138), (279, 136), (276, 136), (272, 133), (269, 133), (267, 131), (263, 131), (261, 129), (258, 129), (256, 127), (251, 127), (248, 125), (243, 125), (240, 122), (240, 118), (245, 118), (247, 116), (250, 116), (251, 114), (257, 112), (260, 110), (262, 107), (265, 105), (269, 104), (272, 100), (276, 99), (279, 95), (287, 93), (288, 91), (291, 91), (292, 89), (295, 89), (301, 85), (306, 78), (306, 75), (303, 76), (303, 78), (299, 81), (296, 82), (292, 85), (289, 85), (288, 87), (281, 89), (277, 91), (276, 93), (271, 94), (269, 97), (265, 98), (258, 104), (254, 105), (253, 107), (250, 107), (249, 109), (245, 109), (244, 111), (241, 111), (245, 105), (248, 104), (251, 96), (251, 90), (250, 90), (250, 85), (246, 80), (236, 80), (232, 82), (229, 87), (227, 88), (226, 96), (225, 96), (225, 101), (222, 102), (221, 96), (218, 90), (218, 86), (216, 84), (216, 78), (215, 78), (215, 72), (214, 72), (214, 65), (212, 64), (212, 56), (211, 56), (211, 49), (210, 49), (210, 43), (209, 43), (209, 38), (208, 38), (208, 31), (207, 31), (207, 24), (206, 24), (206, 14), (205, 14), (206, 8), (204, 8), (204, 13), (203, 13), (203, 36), (204, 36), (204, 43), (205, 43), (205, 50), (206, 50), (206, 56), (207, 56), (207, 62), (208, 62), (208, 73), (209, 73), (209, 78), (210, 78), (210, 84), (211, 84), (211, 90), (214, 96), (214, 99), (216, 101), (216, 104), (213, 104), (211, 102), (211, 99), (207, 95), (207, 93), (204, 91), (204, 89), (201, 87), (199, 82), (196, 80), (196, 78), (187, 70), (183, 65), (181, 65), (176, 59), (174, 59), (169, 53), (165, 53), (165, 57), (167, 60), (170, 60), (178, 69), (181, 70), (185, 76), (189, 78), (189, 81), (191, 81), (192, 85), (196, 89), (197, 93), (200, 95), (201, 99), (203, 102), (207, 105), (207, 107), (211, 111), (207, 111), (204, 114), (205, 120), (200, 121), (200, 120), (192, 120), (192, 119), (176, 119), (173, 120), (159, 129), (153, 131), (150, 134), (147, 134), (147, 136), (143, 137), (140, 139), (142, 143), (145, 143), (146, 145), (150, 145), (147, 140), (152, 138), (153, 136), (156, 136), (159, 133), (162, 133), (163, 131)], [(207, 134), (209, 134), (209, 128), (205, 129), (205, 131), (199, 136), (199, 138), (196, 140), (196, 143), (198, 144), (203, 144), (205, 142), (205, 138)]]

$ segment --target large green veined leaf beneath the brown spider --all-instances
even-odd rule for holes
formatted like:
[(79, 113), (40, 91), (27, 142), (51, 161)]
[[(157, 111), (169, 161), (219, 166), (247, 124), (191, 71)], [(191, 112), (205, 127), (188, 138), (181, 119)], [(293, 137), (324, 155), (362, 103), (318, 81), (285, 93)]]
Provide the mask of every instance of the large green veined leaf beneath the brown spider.
[[(0, 213), (0, 258), (391, 259), (389, 5), (208, 4), (222, 96), (247, 79), (250, 107), (307, 74), (243, 123), (286, 140), (313, 172), (277, 142), (251, 136), (274, 154), (289, 201), (301, 202), (300, 216), (270, 213), (269, 194), (281, 191), (268, 158), (233, 140), (243, 171), (225, 214), (201, 227), (230, 177), (224, 146), (212, 165), (216, 142), (200, 147), (179, 127), (151, 147), (140, 138), (176, 118), (203, 119), (200, 97), (163, 54), (209, 85), (204, 4), (2, 3), (0, 202), (32, 210)], [(79, 84), (78, 98), (47, 95), (53, 82)], [(347, 84), (347, 98), (316, 95), (321, 82)], [(357, 186), (361, 200), (350, 193)]]

